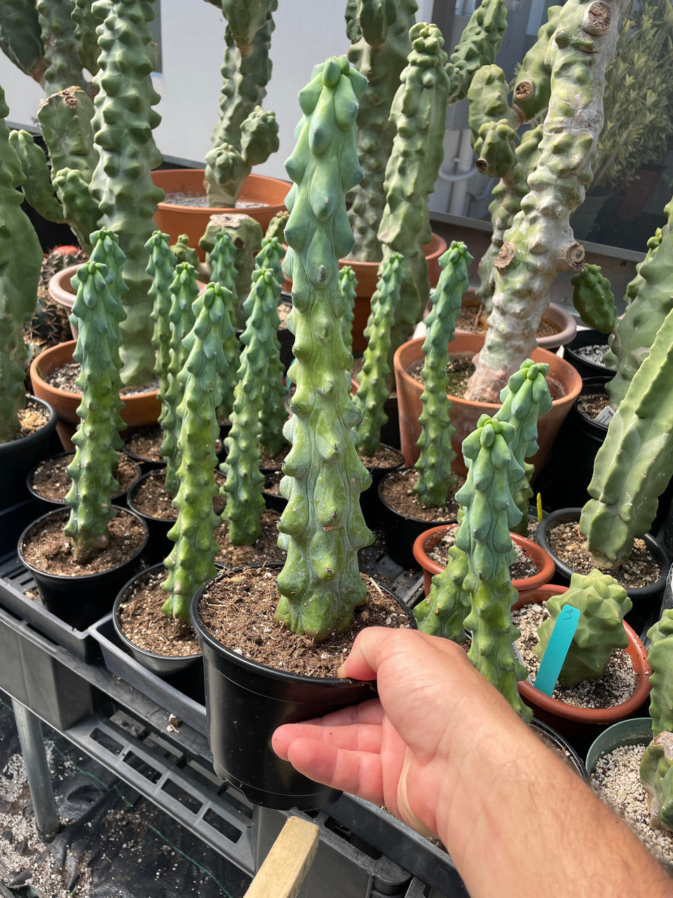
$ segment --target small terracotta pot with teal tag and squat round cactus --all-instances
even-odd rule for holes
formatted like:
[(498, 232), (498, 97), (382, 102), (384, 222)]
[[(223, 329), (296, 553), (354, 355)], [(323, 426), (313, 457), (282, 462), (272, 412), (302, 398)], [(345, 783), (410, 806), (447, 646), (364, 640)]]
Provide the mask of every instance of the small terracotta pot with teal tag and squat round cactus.
[[(514, 608), (523, 608), (533, 603), (545, 603), (550, 595), (559, 595), (567, 591), (567, 586), (546, 584), (538, 589), (520, 594), (519, 602)], [(616, 723), (617, 720), (634, 716), (650, 694), (651, 667), (647, 663), (647, 652), (631, 627), (625, 622), (624, 629), (628, 637), (626, 653), (634, 665), (635, 689), (625, 701), (612, 708), (575, 708), (564, 701), (552, 699), (540, 692), (526, 680), (519, 682), (521, 698), (533, 709), (536, 718), (554, 726), (562, 735), (568, 735), (571, 742), (578, 747), (578, 742), (589, 743), (598, 735), (599, 727)]]

